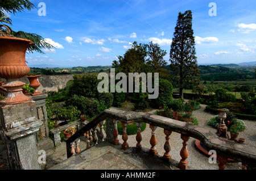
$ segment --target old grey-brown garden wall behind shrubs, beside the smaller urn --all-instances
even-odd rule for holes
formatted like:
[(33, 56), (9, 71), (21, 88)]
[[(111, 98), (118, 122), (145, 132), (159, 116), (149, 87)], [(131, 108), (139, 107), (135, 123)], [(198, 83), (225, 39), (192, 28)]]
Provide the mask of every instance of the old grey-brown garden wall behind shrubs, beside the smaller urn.
[[(38, 87), (40, 92), (58, 91), (67, 85), (67, 82), (73, 79), (73, 74), (67, 75), (42, 75), (39, 77), (41, 85)], [(29, 83), (26, 77), (20, 78), (20, 81)]]

